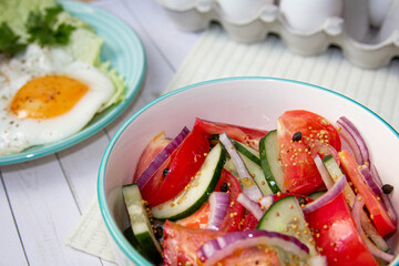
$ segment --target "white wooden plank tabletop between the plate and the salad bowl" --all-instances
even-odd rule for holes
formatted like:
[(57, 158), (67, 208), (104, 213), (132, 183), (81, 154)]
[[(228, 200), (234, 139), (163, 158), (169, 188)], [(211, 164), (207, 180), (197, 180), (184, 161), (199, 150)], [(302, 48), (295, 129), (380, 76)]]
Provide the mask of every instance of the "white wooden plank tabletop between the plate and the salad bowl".
[(96, 0), (140, 35), (146, 75), (106, 129), (68, 150), (0, 168), (0, 265), (113, 265), (63, 244), (96, 192), (102, 154), (121, 124), (160, 96), (201, 33), (178, 31), (154, 0)]

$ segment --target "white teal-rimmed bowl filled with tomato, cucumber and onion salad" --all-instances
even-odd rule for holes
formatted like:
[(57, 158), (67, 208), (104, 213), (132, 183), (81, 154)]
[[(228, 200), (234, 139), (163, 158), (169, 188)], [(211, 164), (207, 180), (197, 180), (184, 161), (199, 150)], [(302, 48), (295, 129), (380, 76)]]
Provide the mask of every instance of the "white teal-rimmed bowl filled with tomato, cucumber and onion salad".
[(225, 79), (111, 141), (99, 201), (121, 264), (395, 265), (398, 133), (323, 88)]

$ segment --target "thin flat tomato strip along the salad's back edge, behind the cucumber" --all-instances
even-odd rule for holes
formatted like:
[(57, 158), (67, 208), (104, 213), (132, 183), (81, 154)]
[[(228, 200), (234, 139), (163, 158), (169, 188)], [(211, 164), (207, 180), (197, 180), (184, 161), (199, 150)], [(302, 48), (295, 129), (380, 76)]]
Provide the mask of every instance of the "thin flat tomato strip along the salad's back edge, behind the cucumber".
[(249, 145), (257, 151), (259, 149), (260, 139), (267, 134), (267, 131), (264, 130), (250, 129), (250, 127), (219, 123), (219, 122), (212, 122), (198, 117), (195, 119), (194, 127), (206, 133), (208, 137), (215, 134), (221, 134), (223, 132), (226, 132), (226, 134), (233, 140)]

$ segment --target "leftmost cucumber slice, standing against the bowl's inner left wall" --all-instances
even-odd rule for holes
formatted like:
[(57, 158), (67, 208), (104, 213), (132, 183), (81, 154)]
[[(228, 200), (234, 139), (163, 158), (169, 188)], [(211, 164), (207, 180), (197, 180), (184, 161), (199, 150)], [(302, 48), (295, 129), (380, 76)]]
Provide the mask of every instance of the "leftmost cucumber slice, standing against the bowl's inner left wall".
[(124, 185), (122, 186), (122, 193), (127, 208), (134, 238), (129, 236), (129, 232), (126, 232), (126, 236), (130, 241), (136, 241), (140, 246), (139, 249), (142, 252), (142, 254), (144, 254), (145, 257), (154, 263), (161, 263), (162, 248), (154, 236), (154, 232), (147, 215), (147, 209), (143, 205), (143, 197), (140, 193), (139, 185)]

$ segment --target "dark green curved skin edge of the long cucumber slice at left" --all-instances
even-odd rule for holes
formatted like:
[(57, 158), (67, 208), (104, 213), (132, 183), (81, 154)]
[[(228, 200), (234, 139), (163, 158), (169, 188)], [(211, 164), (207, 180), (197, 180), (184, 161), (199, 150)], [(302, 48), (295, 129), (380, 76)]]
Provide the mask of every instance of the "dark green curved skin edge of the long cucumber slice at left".
[(221, 145), (221, 147), (222, 147), (221, 156), (216, 164), (216, 168), (215, 168), (214, 175), (212, 177), (212, 181), (211, 181), (209, 185), (207, 186), (205, 193), (186, 211), (184, 211), (175, 216), (170, 216), (170, 217), (156, 217), (154, 215), (153, 217), (155, 219), (158, 219), (158, 221), (170, 219), (170, 221), (174, 222), (177, 219), (185, 218), (185, 217), (192, 215), (193, 213), (195, 213), (196, 211), (198, 211), (208, 201), (211, 193), (215, 191), (217, 183), (221, 180), (223, 166), (226, 163), (226, 150), (224, 149), (223, 145)]

